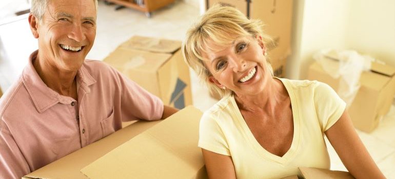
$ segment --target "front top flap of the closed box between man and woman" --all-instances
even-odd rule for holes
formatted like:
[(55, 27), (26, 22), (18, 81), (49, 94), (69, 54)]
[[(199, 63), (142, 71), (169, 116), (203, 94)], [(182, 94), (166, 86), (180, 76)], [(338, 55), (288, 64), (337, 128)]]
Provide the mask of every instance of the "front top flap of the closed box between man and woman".
[(171, 54), (117, 48), (103, 61), (123, 74), (127, 74), (126, 71), (129, 70), (156, 73), (170, 57)]

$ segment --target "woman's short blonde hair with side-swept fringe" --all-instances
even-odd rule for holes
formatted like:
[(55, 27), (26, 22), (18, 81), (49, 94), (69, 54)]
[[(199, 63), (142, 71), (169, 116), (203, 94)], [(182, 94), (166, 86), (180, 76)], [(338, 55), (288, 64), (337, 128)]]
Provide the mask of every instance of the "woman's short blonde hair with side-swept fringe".
[[(187, 31), (183, 43), (183, 55), (186, 63), (205, 82), (210, 92), (217, 92), (221, 97), (231, 95), (229, 89), (222, 89), (208, 81), (212, 76), (203, 63), (207, 60), (202, 57), (210, 51), (218, 52), (231, 44), (240, 36), (261, 36), (264, 43), (272, 42), (268, 35), (263, 34), (263, 24), (258, 19), (248, 19), (242, 12), (232, 7), (215, 5), (211, 7), (196, 23)], [(268, 70), (273, 75), (270, 63)]]

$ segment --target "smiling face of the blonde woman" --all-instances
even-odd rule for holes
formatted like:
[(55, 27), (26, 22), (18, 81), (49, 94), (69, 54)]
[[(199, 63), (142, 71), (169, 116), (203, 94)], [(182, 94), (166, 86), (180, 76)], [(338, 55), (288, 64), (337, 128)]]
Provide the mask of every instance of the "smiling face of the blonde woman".
[(271, 74), (266, 68), (266, 49), (261, 37), (239, 37), (227, 47), (209, 45), (224, 49), (219, 52), (206, 49), (207, 53), (203, 54), (208, 59), (204, 63), (212, 74), (209, 82), (226, 87), (238, 96), (263, 92)]

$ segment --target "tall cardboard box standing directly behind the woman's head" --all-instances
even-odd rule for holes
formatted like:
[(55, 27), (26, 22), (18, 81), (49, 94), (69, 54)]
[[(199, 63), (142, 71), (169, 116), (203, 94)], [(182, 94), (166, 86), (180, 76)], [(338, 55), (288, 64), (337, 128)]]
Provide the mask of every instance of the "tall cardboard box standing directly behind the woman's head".
[[(291, 53), (293, 1), (207, 0), (206, 8), (215, 4), (234, 7), (249, 18), (263, 21), (264, 33), (274, 40), (273, 45), (268, 44), (270, 62), (274, 64), (273, 70), (277, 72), (277, 76), (285, 76), (284, 66)], [(279, 69), (280, 66), (283, 66), (283, 69)]]

